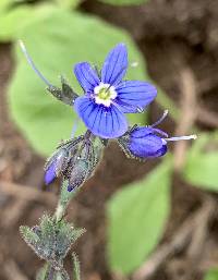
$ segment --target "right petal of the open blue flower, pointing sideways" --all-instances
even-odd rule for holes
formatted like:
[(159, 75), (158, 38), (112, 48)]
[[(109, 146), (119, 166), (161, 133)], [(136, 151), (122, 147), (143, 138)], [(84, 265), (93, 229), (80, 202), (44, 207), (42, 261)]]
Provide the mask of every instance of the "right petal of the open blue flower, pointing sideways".
[(157, 89), (149, 83), (140, 81), (122, 82), (117, 88), (117, 102), (124, 113), (142, 112), (157, 96)]

